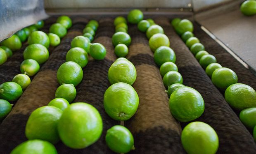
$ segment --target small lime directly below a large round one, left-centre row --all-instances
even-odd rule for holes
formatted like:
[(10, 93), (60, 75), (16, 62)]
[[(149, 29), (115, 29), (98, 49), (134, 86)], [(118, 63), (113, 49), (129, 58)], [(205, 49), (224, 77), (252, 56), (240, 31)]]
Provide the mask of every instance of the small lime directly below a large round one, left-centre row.
[(76, 88), (72, 84), (60, 85), (55, 92), (55, 98), (63, 98), (71, 103), (76, 98)]

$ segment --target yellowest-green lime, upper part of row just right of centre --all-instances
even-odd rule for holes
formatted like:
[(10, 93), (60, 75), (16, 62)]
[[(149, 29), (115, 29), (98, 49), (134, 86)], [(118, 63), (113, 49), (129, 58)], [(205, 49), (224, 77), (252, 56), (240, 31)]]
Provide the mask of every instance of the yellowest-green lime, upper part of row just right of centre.
[(170, 46), (170, 41), (169, 38), (165, 34), (154, 34), (152, 37), (149, 39), (149, 47), (151, 51), (155, 52), (157, 48), (160, 46)]

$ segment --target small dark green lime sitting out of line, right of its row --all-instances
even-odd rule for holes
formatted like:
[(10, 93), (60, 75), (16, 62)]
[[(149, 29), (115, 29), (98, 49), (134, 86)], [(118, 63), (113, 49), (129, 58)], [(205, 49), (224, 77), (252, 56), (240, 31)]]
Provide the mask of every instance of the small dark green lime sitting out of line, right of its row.
[(90, 46), (89, 53), (95, 60), (103, 60), (107, 54), (107, 51), (102, 44), (93, 43)]

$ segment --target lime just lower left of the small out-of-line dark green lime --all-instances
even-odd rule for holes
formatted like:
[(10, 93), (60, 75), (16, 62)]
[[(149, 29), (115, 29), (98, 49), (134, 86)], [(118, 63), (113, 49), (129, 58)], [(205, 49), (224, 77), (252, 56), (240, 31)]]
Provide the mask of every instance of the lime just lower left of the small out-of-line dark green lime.
[(76, 62), (78, 65), (80, 65), (82, 68), (84, 68), (88, 63), (89, 57), (88, 53), (83, 49), (79, 47), (71, 48), (66, 53), (66, 62)]

